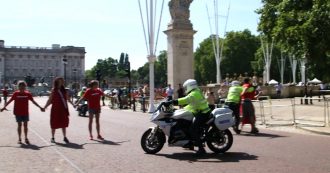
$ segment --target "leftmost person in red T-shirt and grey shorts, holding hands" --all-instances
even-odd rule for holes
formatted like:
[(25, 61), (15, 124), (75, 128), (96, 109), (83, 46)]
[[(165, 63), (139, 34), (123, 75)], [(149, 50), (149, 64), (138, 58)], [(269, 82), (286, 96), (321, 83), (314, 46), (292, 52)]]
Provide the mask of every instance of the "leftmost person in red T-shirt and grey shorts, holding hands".
[(24, 125), (24, 135), (25, 135), (25, 143), (30, 144), (30, 141), (27, 137), (28, 133), (28, 121), (29, 121), (29, 100), (40, 108), (42, 112), (45, 111), (37, 102), (33, 100), (32, 94), (26, 89), (26, 83), (24, 81), (20, 81), (18, 83), (18, 91), (15, 91), (10, 100), (5, 104), (5, 106), (1, 109), (1, 112), (6, 110), (6, 107), (12, 102), (14, 102), (14, 115), (16, 117), (16, 122), (18, 124), (17, 132), (18, 132), (18, 144), (22, 144), (22, 122)]

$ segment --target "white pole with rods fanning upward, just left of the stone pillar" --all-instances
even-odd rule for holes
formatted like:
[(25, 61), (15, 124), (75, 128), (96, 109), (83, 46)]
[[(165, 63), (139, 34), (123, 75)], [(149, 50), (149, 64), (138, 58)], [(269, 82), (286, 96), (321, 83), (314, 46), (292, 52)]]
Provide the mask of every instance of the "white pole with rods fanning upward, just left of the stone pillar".
[[(149, 3), (148, 3), (149, 1)], [(150, 86), (150, 106), (149, 106), (149, 112), (154, 112), (154, 97), (155, 97), (155, 82), (154, 82), (154, 63), (156, 61), (156, 49), (157, 49), (157, 41), (158, 41), (158, 35), (159, 35), (159, 29), (160, 29), (160, 23), (162, 19), (162, 14), (163, 14), (163, 7), (164, 7), (164, 0), (162, 1), (161, 4), (161, 10), (160, 10), (160, 15), (159, 15), (159, 20), (158, 20), (158, 28), (156, 30), (156, 12), (157, 12), (157, 1), (154, 4), (154, 0), (146, 0), (146, 26), (144, 23), (144, 18), (143, 18), (143, 13), (142, 13), (142, 8), (141, 8), (141, 3), (140, 0), (138, 0), (139, 3), (139, 8), (140, 8), (140, 15), (141, 15), (141, 21), (142, 21), (142, 27), (143, 27), (143, 32), (144, 32), (144, 39), (147, 47), (147, 52), (148, 52), (148, 61), (149, 61), (149, 86)], [(146, 29), (148, 33), (146, 34)], [(155, 31), (157, 31), (157, 35), (155, 37)], [(147, 38), (148, 36), (148, 38)]]

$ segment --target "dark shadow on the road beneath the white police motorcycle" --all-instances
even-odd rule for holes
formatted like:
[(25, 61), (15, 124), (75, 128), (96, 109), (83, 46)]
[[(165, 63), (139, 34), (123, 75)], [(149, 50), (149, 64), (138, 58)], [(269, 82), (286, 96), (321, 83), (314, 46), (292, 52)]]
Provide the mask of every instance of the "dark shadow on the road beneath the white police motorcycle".
[[(189, 162), (239, 162), (241, 160), (257, 160), (258, 156), (250, 155), (242, 152), (227, 152), (224, 154), (207, 153), (204, 156), (196, 156), (191, 153), (174, 153), (174, 154), (156, 154), (169, 159), (186, 160)], [(216, 160), (214, 160), (216, 159)]]

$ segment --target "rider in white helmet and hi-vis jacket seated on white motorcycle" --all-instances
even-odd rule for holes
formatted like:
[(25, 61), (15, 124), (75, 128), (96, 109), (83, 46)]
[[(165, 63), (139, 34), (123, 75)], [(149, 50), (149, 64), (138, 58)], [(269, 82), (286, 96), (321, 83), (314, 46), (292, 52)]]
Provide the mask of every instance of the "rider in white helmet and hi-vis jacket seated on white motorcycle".
[(196, 80), (188, 79), (183, 83), (186, 96), (178, 100), (166, 102), (167, 104), (186, 105), (183, 109), (191, 112), (194, 115), (191, 124), (191, 136), (198, 146), (196, 155), (203, 155), (206, 153), (203, 143), (201, 141), (202, 126), (206, 123), (210, 115), (210, 108), (202, 91), (199, 89)]

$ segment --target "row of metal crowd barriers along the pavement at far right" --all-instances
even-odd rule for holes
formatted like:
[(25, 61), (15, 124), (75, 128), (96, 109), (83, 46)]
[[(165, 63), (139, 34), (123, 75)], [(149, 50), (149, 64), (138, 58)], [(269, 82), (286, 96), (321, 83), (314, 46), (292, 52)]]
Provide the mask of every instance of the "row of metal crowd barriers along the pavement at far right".
[[(296, 126), (296, 125), (308, 125), (316, 127), (325, 127), (330, 124), (330, 97), (324, 97), (323, 103), (317, 103), (313, 105), (300, 104), (301, 100), (305, 97), (296, 97), (292, 99), (273, 99), (269, 96), (259, 97), (259, 100), (254, 100), (254, 106), (256, 110), (256, 118), (260, 119), (261, 125), (266, 126)], [(309, 98), (312, 100), (319, 100), (319, 98)], [(290, 103), (287, 103), (290, 100)], [(280, 104), (280, 102), (286, 102)], [(302, 109), (305, 107), (305, 109)], [(308, 107), (308, 111), (306, 111)], [(288, 109), (289, 108), (289, 109)], [(292, 115), (288, 115), (289, 111)], [(323, 109), (323, 115), (315, 115), (315, 112), (319, 112)]]

